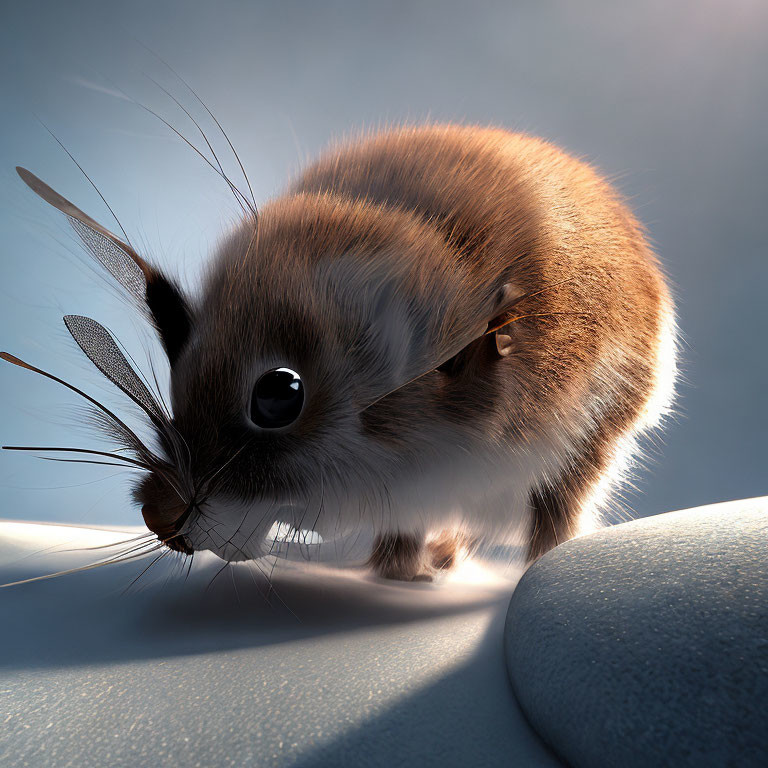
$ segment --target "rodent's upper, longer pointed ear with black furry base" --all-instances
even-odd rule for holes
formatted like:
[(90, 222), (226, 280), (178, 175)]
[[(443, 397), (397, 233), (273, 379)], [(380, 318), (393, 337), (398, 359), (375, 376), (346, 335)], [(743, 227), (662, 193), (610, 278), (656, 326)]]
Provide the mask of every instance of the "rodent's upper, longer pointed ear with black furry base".
[(178, 286), (139, 256), (131, 245), (102, 227), (26, 168), (17, 167), (16, 172), (35, 194), (66, 215), (96, 261), (148, 310), (173, 365), (192, 328), (190, 308)]

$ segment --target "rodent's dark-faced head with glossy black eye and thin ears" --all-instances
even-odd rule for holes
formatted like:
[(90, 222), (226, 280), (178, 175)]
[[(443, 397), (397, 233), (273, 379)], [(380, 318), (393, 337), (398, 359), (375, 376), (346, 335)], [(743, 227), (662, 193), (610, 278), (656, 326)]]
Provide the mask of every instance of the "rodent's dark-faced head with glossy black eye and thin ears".
[(415, 215), (323, 194), (282, 198), (233, 232), (192, 299), (20, 174), (68, 215), (160, 334), (172, 416), (98, 323), (67, 319), (158, 432), (159, 455), (104, 410), (111, 434), (149, 470), (135, 497), (172, 549), (250, 559), (266, 554), (275, 521), (314, 528), (346, 510), (375, 524), (387, 482), (439, 465), (441, 440), (470, 438), (467, 419), (448, 406), (456, 366), (445, 364), (466, 358), (518, 296), (473, 282)]

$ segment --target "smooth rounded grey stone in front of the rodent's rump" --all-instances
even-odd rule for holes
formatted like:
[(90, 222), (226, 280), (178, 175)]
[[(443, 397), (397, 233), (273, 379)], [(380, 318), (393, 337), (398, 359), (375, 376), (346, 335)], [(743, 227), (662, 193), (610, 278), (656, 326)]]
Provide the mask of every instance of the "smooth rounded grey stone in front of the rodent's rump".
[(520, 581), (507, 668), (574, 768), (768, 766), (768, 497), (624, 523)]

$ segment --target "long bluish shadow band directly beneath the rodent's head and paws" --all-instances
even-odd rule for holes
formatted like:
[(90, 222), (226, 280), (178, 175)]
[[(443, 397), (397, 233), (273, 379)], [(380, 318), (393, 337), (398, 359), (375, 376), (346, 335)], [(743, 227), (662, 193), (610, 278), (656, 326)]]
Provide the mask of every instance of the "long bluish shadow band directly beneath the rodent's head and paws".
[[(185, 579), (147, 560), (0, 590), (0, 667), (48, 668), (226, 651), (425, 621), (508, 600), (512, 582), (399, 584), (361, 569), (281, 563), (271, 587), (253, 564), (201, 558)], [(29, 566), (0, 569), (0, 583)], [(55, 570), (55, 569), (54, 569)], [(41, 569), (38, 565), (36, 573)], [(45, 570), (42, 570), (45, 572)], [(138, 591), (137, 591), (138, 590)]]

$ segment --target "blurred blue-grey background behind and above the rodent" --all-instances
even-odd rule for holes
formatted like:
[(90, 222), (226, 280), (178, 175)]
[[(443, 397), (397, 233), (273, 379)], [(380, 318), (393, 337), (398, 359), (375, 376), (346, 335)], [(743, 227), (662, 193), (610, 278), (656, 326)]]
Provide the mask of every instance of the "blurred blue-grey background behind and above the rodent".
[[(194, 281), (236, 207), (130, 100), (197, 138), (144, 73), (201, 115), (199, 106), (145, 46), (209, 103), (258, 200), (334, 136), (402, 120), (503, 125), (596, 164), (648, 226), (685, 338), (678, 417), (651, 447), (630, 505), (645, 515), (768, 493), (768, 4), (5, 0), (0, 345), (111, 404), (120, 401), (61, 315), (95, 316), (144, 365), (156, 345), (13, 166), (114, 226), (43, 121), (145, 252)], [(94, 444), (76, 428), (75, 400), (52, 383), (3, 365), (0, 392), (3, 443)], [(0, 516), (138, 521), (124, 475), (7, 453), (0, 462)]]

